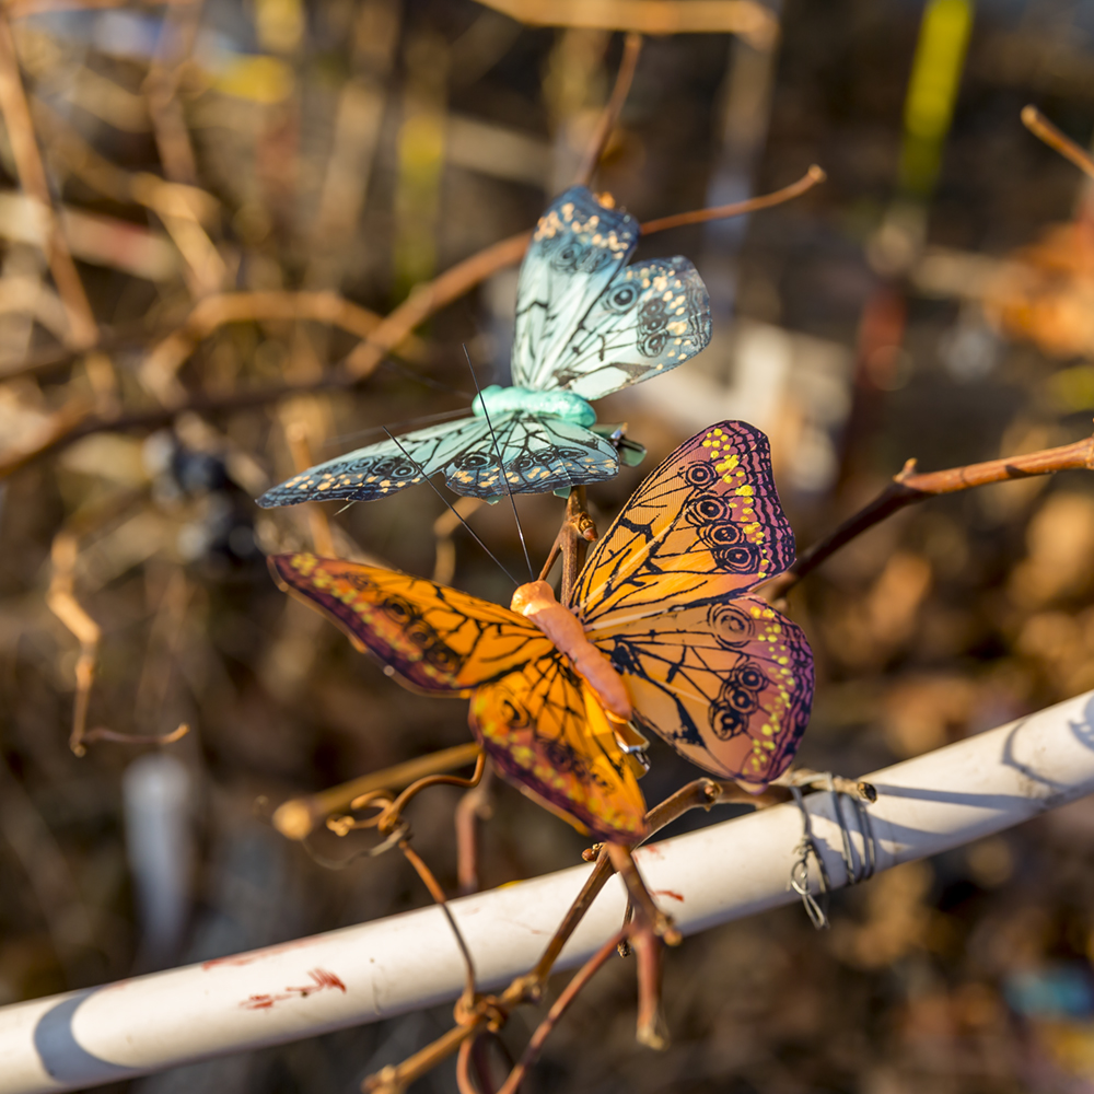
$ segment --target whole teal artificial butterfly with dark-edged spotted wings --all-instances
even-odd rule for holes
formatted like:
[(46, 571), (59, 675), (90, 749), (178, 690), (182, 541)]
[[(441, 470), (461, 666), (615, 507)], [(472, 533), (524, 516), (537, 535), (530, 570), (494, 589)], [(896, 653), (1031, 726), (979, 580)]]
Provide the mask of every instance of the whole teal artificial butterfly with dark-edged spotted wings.
[(310, 467), (258, 504), (373, 501), (439, 472), (456, 493), (490, 499), (615, 476), (619, 447), (592, 429), (589, 400), (698, 353), (710, 301), (686, 258), (627, 266), (639, 224), (609, 200), (573, 186), (539, 219), (517, 287), (514, 386), (485, 388), (469, 418)]

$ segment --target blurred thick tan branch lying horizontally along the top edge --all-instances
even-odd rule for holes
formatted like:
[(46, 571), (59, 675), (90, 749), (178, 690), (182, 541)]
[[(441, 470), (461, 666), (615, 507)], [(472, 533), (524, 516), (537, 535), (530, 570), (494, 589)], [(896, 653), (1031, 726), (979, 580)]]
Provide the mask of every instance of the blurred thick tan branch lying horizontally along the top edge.
[(479, 0), (534, 26), (638, 34), (740, 34), (769, 49), (779, 34), (770, 10), (754, 0)]

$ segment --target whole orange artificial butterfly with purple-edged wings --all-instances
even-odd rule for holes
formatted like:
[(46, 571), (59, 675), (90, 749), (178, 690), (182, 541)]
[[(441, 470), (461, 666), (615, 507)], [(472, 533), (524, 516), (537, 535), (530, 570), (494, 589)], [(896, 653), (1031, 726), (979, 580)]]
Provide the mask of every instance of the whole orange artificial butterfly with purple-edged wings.
[[(551, 613), (550, 626), (521, 613), (549, 594), (545, 582), (517, 589), (513, 610), (356, 562), (277, 555), (270, 567), (388, 674), (469, 696), (472, 729), (510, 781), (582, 830), (635, 842), (645, 830), (636, 726), (753, 789), (790, 764), (813, 655), (800, 628), (749, 590), (793, 552), (767, 438), (723, 421), (665, 459), (592, 547), (569, 610), (552, 606), (577, 639), (558, 639)], [(582, 641), (591, 655), (560, 648)]]

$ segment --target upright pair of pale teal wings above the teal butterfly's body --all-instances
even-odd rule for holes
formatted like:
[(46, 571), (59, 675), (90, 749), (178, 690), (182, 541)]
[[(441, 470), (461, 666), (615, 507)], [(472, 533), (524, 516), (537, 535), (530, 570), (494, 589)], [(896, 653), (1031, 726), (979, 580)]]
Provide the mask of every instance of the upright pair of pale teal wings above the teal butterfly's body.
[(695, 266), (627, 266), (638, 235), (632, 217), (583, 186), (544, 213), (521, 267), (514, 384), (598, 399), (707, 346), (710, 300)]

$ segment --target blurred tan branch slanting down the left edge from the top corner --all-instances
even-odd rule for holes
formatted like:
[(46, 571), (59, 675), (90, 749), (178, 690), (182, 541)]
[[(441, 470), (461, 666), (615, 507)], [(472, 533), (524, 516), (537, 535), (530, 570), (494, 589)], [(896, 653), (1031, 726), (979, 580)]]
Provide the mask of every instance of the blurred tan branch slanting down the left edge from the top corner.
[(69, 316), (71, 338), (78, 346), (91, 346), (97, 337), (95, 316), (54, 211), (46, 170), (19, 73), (11, 24), (3, 14), (0, 14), (0, 112), (8, 129), (20, 185), (40, 205), (47, 218), (46, 258)]

